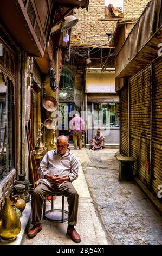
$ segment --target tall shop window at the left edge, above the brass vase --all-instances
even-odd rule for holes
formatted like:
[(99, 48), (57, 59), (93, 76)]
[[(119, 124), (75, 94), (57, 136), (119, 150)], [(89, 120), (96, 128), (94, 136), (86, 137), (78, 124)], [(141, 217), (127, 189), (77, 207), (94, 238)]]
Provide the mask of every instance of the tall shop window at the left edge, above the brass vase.
[(12, 82), (0, 74), (0, 181), (14, 168)]

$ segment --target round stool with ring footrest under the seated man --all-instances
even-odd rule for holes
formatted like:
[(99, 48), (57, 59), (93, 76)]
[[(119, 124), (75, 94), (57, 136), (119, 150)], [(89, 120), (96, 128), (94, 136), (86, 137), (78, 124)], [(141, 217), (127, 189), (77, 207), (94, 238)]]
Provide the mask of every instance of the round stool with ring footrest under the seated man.
[[(68, 220), (68, 214), (69, 212), (64, 210), (64, 196), (62, 196), (62, 194), (60, 193), (51, 193), (48, 196), (51, 196), (51, 210), (46, 211), (46, 198), (44, 199), (44, 203), (43, 203), (43, 219), (47, 218), (50, 221), (54, 221), (54, 222), (64, 222)], [(62, 196), (62, 209), (54, 209), (54, 198), (53, 196)], [(61, 218), (55, 218), (55, 216), (53, 216), (53, 214), (51, 215), (51, 217), (48, 217), (47, 214), (49, 212), (61, 212)], [(64, 215), (67, 216), (64, 216)]]

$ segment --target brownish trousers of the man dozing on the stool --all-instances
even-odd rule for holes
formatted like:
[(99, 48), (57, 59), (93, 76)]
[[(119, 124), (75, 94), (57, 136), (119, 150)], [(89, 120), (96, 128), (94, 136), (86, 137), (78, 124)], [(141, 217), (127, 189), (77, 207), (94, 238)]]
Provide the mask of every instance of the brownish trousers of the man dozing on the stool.
[(63, 196), (67, 197), (69, 205), (69, 219), (68, 225), (76, 225), (77, 223), (77, 210), (78, 210), (78, 199), (79, 196), (75, 190), (72, 182), (66, 181), (60, 187), (53, 185), (48, 186), (43, 180), (35, 188), (31, 197), (31, 210), (32, 210), (32, 224), (36, 225), (42, 221), (42, 207), (44, 199), (51, 192), (59, 192)]

